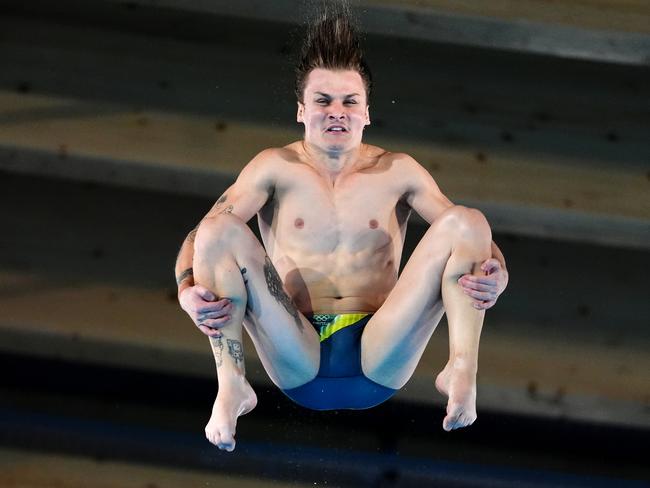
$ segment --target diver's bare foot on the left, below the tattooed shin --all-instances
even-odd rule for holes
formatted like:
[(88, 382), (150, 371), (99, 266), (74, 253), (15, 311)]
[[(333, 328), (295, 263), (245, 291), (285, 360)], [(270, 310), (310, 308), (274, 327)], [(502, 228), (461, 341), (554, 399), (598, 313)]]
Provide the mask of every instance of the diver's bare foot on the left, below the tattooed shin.
[(235, 450), (237, 417), (257, 405), (257, 396), (243, 376), (234, 377), (227, 385), (220, 384), (212, 415), (205, 426), (205, 436), (219, 449)]

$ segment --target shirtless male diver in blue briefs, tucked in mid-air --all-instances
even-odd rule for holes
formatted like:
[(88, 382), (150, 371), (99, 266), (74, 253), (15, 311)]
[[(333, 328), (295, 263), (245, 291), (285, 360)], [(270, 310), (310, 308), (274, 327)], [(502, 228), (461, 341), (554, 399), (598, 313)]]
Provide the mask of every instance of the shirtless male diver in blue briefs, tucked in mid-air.
[[(485, 310), (508, 281), (490, 227), (412, 157), (362, 142), (371, 78), (344, 5), (313, 21), (296, 73), (303, 140), (250, 161), (176, 263), (180, 304), (209, 336), (217, 366), (206, 436), (232, 451), (238, 417), (257, 403), (244, 328), (293, 401), (362, 409), (404, 386), (445, 313), (442, 426), (470, 425)], [(412, 211), (429, 228), (398, 276)], [(255, 215), (262, 243), (246, 224)]]

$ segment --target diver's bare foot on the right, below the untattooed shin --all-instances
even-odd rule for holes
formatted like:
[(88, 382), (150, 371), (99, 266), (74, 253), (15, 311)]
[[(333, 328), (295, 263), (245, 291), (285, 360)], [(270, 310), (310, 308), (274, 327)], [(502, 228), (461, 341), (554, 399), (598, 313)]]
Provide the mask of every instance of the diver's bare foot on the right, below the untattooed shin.
[(462, 359), (449, 361), (436, 377), (436, 388), (446, 395), (447, 416), (442, 421), (446, 431), (467, 427), (476, 420), (476, 368)]

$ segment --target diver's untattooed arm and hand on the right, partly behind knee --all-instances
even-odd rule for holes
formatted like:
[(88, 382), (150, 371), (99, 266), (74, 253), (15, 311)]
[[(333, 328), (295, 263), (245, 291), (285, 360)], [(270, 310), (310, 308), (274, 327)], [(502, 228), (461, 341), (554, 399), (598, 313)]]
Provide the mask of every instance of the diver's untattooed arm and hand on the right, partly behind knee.
[[(408, 204), (424, 220), (431, 224), (442, 212), (454, 204), (440, 191), (440, 188), (417, 161), (404, 155), (401, 161), (404, 173), (410, 176)], [(412, 177), (412, 178), (411, 178)], [(481, 263), (484, 276), (466, 274), (460, 277), (458, 284), (474, 300), (474, 307), (488, 309), (496, 303), (499, 295), (508, 286), (506, 260), (499, 247), (492, 241), (492, 257)]]

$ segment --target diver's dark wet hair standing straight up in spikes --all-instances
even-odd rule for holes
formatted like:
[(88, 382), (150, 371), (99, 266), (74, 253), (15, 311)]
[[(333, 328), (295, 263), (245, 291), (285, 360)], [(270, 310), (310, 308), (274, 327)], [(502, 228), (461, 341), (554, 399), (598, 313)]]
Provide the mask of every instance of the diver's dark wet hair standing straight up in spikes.
[(345, 0), (324, 0), (307, 25), (300, 61), (296, 66), (296, 97), (303, 102), (307, 76), (316, 68), (354, 70), (370, 98), (372, 76), (363, 58), (361, 40)]

